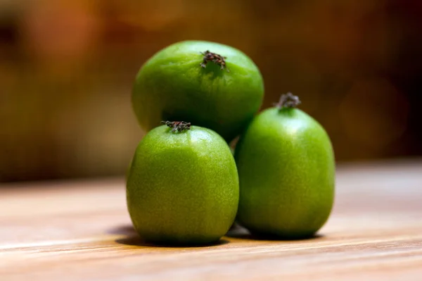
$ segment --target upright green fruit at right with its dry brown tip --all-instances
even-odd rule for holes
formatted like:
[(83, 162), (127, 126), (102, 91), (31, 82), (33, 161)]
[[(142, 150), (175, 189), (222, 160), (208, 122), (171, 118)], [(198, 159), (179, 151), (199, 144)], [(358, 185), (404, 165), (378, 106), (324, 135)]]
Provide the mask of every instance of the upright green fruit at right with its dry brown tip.
[(252, 121), (236, 146), (238, 220), (257, 235), (298, 239), (328, 220), (335, 160), (324, 128), (290, 93)]

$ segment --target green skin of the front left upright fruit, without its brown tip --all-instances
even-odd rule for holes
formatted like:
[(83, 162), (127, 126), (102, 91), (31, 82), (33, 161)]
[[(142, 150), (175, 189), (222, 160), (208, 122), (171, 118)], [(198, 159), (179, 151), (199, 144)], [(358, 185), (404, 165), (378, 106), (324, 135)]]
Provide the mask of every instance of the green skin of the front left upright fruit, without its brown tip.
[(191, 126), (171, 132), (162, 125), (136, 148), (127, 180), (127, 207), (147, 242), (217, 242), (238, 208), (234, 157), (216, 132)]

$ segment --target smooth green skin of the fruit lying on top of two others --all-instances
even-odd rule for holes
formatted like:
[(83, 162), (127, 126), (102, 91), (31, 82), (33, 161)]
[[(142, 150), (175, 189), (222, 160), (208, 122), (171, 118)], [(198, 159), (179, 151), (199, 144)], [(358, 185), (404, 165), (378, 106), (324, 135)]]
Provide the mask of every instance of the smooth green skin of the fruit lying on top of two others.
[[(226, 67), (203, 61), (201, 52), (226, 56)], [(158, 51), (136, 75), (132, 107), (143, 130), (161, 120), (188, 120), (230, 142), (259, 111), (264, 82), (257, 65), (231, 46), (205, 41), (177, 42)]]

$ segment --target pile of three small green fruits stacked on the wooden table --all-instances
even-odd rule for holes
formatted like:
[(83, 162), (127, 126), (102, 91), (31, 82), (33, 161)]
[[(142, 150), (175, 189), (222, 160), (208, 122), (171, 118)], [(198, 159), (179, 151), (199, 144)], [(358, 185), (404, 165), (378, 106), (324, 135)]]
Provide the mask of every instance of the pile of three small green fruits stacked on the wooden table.
[(326, 223), (331, 141), (298, 96), (259, 112), (263, 97), (257, 65), (231, 46), (179, 42), (142, 65), (132, 105), (147, 134), (128, 170), (127, 207), (144, 240), (217, 242), (235, 220), (254, 235), (298, 239)]

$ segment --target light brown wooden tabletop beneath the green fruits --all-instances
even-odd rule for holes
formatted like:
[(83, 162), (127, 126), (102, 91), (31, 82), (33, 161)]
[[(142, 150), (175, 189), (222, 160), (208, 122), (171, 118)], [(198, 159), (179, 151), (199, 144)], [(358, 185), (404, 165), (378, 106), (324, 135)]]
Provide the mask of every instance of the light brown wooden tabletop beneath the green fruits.
[(124, 180), (0, 188), (0, 280), (422, 280), (422, 161), (340, 165), (314, 239), (143, 244)]

